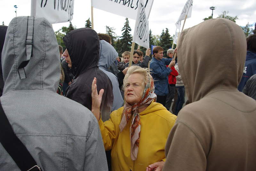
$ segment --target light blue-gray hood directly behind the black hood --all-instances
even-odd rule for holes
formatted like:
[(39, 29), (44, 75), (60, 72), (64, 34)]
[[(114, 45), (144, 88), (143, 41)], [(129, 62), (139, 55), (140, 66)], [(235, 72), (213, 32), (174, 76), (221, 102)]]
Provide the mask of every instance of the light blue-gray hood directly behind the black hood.
[(118, 53), (107, 41), (100, 40), (99, 68), (108, 71), (108, 68), (115, 62)]

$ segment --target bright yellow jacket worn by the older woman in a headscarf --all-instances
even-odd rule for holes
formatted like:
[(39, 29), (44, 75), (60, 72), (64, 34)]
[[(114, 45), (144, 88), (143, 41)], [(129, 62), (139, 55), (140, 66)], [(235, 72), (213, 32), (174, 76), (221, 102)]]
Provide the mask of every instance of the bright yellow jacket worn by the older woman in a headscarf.
[(164, 160), (164, 146), (169, 132), (177, 116), (171, 114), (166, 108), (152, 102), (148, 108), (140, 112), (140, 144), (137, 160), (131, 159), (130, 127), (131, 120), (120, 132), (119, 124), (124, 107), (113, 111), (108, 121), (100, 119), (99, 126), (105, 150), (111, 151), (112, 171), (141, 171), (148, 165)]

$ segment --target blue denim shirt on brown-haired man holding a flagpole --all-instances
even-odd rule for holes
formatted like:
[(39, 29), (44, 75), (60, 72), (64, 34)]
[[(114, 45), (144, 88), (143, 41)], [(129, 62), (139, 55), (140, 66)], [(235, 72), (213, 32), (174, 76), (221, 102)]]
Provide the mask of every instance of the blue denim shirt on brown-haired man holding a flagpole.
[(171, 58), (162, 58), (158, 61), (155, 57), (152, 57), (150, 70), (152, 70), (151, 75), (154, 79), (156, 95), (165, 96), (169, 93), (168, 75), (172, 70), (169, 67), (166, 68), (166, 65), (169, 65), (171, 61)]

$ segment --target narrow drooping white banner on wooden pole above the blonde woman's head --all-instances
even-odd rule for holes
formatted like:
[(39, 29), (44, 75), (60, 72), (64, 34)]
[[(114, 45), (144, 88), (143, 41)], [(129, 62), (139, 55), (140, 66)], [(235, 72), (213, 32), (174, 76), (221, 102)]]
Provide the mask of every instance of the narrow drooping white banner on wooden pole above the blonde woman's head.
[(143, 0), (139, 0), (132, 42), (144, 48), (149, 48), (149, 26)]

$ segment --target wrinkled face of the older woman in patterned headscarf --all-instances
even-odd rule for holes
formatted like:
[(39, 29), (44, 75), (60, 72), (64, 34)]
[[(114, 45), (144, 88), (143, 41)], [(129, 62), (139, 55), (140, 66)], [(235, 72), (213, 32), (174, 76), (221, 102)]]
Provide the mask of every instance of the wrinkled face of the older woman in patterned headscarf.
[(144, 86), (142, 85), (143, 80), (143, 76), (138, 73), (131, 74), (128, 77), (124, 88), (124, 99), (126, 102), (131, 105), (140, 102), (144, 90)]

